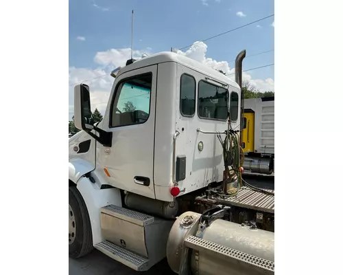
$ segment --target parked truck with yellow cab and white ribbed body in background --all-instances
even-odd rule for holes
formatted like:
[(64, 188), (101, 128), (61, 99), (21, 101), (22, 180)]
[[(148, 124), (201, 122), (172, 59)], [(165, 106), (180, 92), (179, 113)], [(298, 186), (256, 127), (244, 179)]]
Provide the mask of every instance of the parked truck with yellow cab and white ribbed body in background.
[(274, 96), (245, 99), (243, 120), (245, 171), (274, 175)]

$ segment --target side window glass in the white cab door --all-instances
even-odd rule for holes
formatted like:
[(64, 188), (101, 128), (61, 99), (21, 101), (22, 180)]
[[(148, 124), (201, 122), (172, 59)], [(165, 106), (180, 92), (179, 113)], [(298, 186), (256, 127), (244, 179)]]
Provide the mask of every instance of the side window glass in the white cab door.
[(152, 74), (123, 80), (115, 92), (111, 108), (110, 127), (141, 124), (150, 115)]

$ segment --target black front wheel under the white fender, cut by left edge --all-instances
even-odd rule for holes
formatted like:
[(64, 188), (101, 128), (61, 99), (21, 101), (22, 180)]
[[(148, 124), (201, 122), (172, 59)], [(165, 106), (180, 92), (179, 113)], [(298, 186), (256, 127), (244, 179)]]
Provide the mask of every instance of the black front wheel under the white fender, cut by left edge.
[(93, 250), (92, 228), (79, 190), (69, 186), (69, 257), (76, 259)]

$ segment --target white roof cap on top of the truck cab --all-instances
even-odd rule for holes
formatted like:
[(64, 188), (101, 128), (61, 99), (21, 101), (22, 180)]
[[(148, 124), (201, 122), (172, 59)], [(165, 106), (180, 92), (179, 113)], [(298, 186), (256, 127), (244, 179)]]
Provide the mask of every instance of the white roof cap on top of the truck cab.
[(237, 89), (239, 89), (239, 85), (235, 83), (235, 81), (225, 76), (224, 74), (217, 72), (217, 70), (208, 67), (198, 61), (195, 61), (194, 59), (191, 59), (187, 56), (176, 54), (175, 52), (160, 52), (158, 54), (146, 56), (137, 61), (134, 61), (134, 63), (127, 65), (126, 67), (121, 68), (119, 74), (131, 71), (132, 69), (138, 69), (141, 67), (146, 67), (165, 62), (179, 63), (181, 65), (184, 65), (185, 67), (189, 67), (189, 69), (193, 69), (197, 72), (205, 74), (206, 76), (210, 76), (211, 78), (220, 80), (221, 82), (228, 84), (230, 87), (236, 87)]

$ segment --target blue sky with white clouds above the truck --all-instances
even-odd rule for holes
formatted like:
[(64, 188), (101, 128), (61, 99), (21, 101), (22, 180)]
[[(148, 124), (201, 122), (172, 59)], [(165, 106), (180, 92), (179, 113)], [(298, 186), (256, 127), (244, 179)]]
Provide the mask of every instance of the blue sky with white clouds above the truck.
[[(104, 114), (114, 78), (103, 75), (130, 58), (132, 10), (134, 57), (185, 47), (178, 53), (228, 74), (241, 50), (243, 69), (274, 63), (274, 17), (200, 42), (274, 14), (274, 0), (69, 0), (69, 119), (73, 87), (84, 80), (92, 110)], [(274, 66), (245, 72), (244, 79), (274, 91)]]

